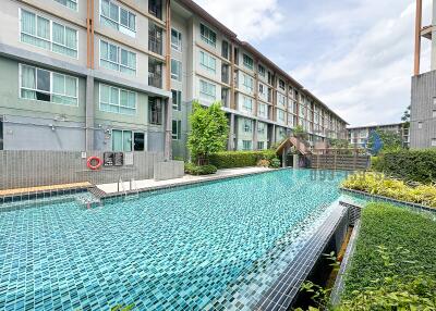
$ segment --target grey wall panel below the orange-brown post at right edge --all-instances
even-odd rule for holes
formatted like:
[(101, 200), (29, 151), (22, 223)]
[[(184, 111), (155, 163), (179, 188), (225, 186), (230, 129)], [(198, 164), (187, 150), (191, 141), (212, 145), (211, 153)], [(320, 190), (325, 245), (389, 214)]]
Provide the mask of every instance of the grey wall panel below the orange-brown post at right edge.
[(412, 77), (411, 148), (429, 148), (436, 140), (436, 71)]

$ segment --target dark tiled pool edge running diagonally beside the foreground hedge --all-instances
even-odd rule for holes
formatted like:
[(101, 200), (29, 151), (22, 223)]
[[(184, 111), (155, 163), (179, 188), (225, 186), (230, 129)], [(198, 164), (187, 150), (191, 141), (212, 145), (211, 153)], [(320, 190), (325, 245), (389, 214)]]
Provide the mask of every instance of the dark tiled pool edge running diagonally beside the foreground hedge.
[(348, 215), (348, 207), (339, 202), (335, 203), (336, 206), (329, 216), (299, 251), (296, 257), (289, 262), (287, 269), (272, 286), (262, 295), (254, 310), (289, 310), (300, 291), (301, 285), (313, 270), (341, 222)]

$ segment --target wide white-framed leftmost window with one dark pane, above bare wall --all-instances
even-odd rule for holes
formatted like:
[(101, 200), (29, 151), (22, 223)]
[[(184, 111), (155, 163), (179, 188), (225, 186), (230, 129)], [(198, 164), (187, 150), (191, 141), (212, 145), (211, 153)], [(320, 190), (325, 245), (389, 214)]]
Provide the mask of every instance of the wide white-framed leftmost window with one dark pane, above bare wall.
[(20, 64), (20, 95), (31, 100), (77, 105), (76, 77)]

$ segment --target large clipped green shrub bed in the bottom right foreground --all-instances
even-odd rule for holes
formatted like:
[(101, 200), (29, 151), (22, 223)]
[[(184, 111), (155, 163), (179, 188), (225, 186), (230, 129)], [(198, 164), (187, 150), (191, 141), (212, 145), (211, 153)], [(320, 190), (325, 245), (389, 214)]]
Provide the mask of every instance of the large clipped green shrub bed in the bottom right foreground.
[(386, 203), (361, 221), (339, 310), (435, 310), (436, 222)]

